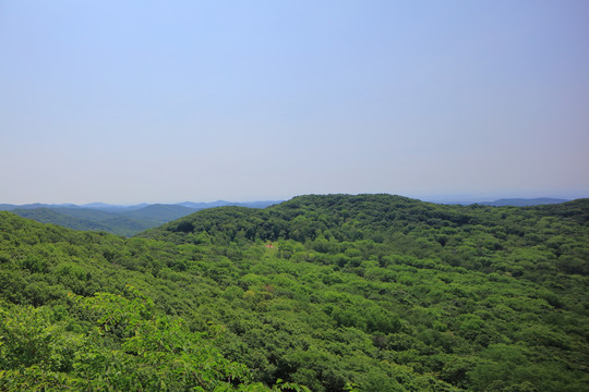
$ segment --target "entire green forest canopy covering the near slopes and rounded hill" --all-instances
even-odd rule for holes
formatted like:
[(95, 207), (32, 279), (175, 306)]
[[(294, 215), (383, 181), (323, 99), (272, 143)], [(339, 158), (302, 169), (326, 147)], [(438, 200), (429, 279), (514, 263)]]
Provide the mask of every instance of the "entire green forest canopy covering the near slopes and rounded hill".
[(0, 391), (587, 391), (589, 199), (0, 211)]

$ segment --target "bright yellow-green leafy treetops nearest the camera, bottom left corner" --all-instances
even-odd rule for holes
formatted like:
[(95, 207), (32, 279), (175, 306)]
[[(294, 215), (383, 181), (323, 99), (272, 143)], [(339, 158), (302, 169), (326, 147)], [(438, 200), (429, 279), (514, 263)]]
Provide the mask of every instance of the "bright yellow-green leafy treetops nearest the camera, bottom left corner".
[[(92, 319), (85, 333), (51, 322), (47, 307), (2, 309), (1, 390), (261, 391), (248, 368), (225, 359), (203, 333), (157, 315), (132, 287), (130, 298), (70, 294), (73, 309)], [(280, 383), (275, 390), (305, 390)]]

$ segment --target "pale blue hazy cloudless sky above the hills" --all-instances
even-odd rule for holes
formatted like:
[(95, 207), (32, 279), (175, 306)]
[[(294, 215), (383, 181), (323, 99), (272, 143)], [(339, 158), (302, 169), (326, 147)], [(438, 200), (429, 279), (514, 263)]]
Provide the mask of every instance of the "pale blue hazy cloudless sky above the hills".
[(589, 1), (0, 0), (0, 203), (589, 197)]

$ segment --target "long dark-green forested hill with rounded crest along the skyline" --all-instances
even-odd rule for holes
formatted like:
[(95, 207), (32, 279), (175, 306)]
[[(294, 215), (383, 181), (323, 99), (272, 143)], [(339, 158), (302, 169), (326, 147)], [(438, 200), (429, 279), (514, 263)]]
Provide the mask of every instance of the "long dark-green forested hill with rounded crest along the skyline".
[[(520, 208), (444, 206), (384, 194), (310, 195), (264, 210), (204, 210), (140, 236), (217, 245), (292, 240), (323, 254), (341, 242), (371, 241), (387, 252), (534, 280), (554, 271), (589, 273), (588, 222), (589, 199)], [(539, 247), (550, 255), (537, 258)]]

